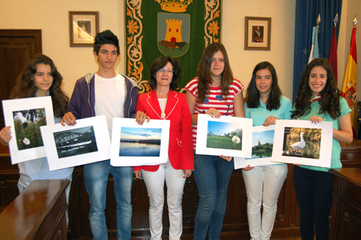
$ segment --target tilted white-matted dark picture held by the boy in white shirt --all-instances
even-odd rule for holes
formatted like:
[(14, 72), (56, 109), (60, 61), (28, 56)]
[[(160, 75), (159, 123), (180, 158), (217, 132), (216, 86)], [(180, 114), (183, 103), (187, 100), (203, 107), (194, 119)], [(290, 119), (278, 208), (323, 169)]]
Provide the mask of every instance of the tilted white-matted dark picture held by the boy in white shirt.
[(105, 115), (40, 127), (50, 170), (110, 159), (110, 137)]

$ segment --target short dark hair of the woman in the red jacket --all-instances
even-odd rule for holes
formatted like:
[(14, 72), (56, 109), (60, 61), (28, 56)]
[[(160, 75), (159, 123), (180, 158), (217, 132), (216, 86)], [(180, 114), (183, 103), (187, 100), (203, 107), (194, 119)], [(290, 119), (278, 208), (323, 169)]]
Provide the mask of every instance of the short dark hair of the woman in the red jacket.
[(155, 59), (151, 64), (149, 79), (149, 85), (151, 89), (156, 88), (156, 72), (166, 66), (168, 62), (170, 62), (173, 66), (173, 77), (171, 81), (171, 86), (169, 88), (171, 90), (176, 90), (178, 88), (177, 80), (181, 75), (181, 64), (179, 64), (178, 60), (173, 57), (162, 56)]

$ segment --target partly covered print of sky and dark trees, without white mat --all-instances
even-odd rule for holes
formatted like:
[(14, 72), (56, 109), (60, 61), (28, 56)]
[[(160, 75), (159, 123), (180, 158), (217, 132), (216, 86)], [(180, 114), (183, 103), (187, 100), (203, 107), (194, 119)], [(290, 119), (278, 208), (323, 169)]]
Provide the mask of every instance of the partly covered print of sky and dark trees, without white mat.
[(274, 135), (275, 130), (252, 133), (252, 159), (272, 156)]

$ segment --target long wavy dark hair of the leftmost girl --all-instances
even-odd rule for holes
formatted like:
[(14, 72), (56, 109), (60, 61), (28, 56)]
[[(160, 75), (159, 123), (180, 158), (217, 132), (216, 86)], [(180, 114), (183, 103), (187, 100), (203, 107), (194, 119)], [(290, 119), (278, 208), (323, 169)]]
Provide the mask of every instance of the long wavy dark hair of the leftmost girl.
[(34, 75), (37, 70), (38, 64), (50, 65), (52, 70), (52, 86), (49, 89), (50, 96), (52, 96), (52, 108), (55, 116), (62, 118), (64, 113), (67, 112), (69, 97), (62, 91), (62, 74), (57, 71), (54, 62), (46, 55), (35, 55), (23, 69), (23, 72), (18, 76), (16, 86), (11, 90), (10, 98), (33, 98), (35, 96), (36, 88), (33, 83)]

